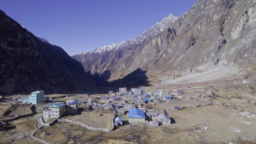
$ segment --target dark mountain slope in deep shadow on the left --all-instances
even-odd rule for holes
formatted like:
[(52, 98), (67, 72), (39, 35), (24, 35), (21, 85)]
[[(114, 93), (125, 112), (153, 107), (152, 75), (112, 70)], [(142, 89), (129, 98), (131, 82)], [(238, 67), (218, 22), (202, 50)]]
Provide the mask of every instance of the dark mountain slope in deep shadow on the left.
[(0, 94), (96, 88), (82, 65), (0, 10)]

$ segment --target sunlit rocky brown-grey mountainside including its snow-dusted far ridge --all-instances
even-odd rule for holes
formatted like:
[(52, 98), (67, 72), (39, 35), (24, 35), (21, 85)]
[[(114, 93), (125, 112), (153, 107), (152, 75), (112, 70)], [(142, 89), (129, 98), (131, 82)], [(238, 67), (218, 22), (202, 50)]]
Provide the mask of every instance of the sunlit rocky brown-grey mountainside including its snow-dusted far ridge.
[(103, 46), (72, 57), (86, 72), (108, 81), (127, 80), (138, 69), (147, 83), (193, 83), (239, 75), (256, 79), (255, 11), (255, 0), (197, 0), (187, 13), (144, 41)]

